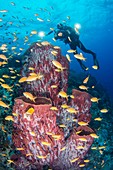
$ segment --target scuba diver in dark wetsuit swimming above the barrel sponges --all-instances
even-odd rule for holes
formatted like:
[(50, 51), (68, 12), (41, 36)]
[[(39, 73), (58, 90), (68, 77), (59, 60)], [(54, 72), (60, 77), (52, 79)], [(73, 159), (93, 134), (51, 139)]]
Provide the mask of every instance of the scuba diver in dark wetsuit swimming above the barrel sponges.
[[(74, 28), (72, 28), (70, 26), (63, 25), (63, 24), (60, 23), (60, 24), (57, 25), (57, 30), (52, 30), (46, 35), (50, 35), (53, 32), (54, 32), (54, 39), (55, 40), (59, 39), (59, 40), (63, 41), (65, 44), (69, 44), (69, 46), (72, 50), (75, 50), (75, 52), (73, 53), (74, 55), (78, 54), (77, 47), (79, 47), (85, 53), (92, 54), (94, 65), (97, 66), (97, 69), (99, 69), (99, 63), (98, 63), (98, 60), (96, 58), (96, 54), (93, 51), (85, 48), (85, 46), (79, 40), (79, 35), (76, 33)], [(77, 61), (79, 62), (80, 66), (83, 70), (88, 69), (82, 63), (82, 61), (80, 59), (77, 59)]]

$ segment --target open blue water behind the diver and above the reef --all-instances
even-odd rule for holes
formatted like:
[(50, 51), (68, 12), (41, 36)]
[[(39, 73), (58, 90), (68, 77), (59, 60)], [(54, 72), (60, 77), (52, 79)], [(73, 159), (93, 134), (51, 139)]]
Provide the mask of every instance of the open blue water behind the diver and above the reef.
[[(60, 22), (66, 21), (72, 27), (75, 23), (80, 23), (80, 40), (88, 49), (97, 54), (100, 70), (92, 69), (93, 59), (88, 54), (84, 54), (87, 58), (85, 65), (90, 68), (89, 72), (96, 77), (113, 99), (113, 0), (0, 0), (0, 10), (8, 10), (5, 13), (0, 12), (2, 19), (0, 21), (0, 46), (7, 44), (9, 55), (14, 53), (11, 51), (12, 46), (17, 47), (15, 51), (18, 53), (19, 48), (24, 48), (25, 51), (29, 43), (40, 40), (38, 35), (30, 37), (32, 30), (47, 33), (50, 27), (56, 28), (57, 23)], [(67, 16), (70, 16), (70, 20)], [(42, 18), (44, 22), (38, 21), (37, 17)], [(13, 42), (12, 33), (16, 33), (18, 37), (15, 42)], [(25, 36), (29, 37), (26, 44), (24, 44)], [(65, 55), (69, 46), (60, 41), (54, 42), (52, 37), (53, 35), (50, 35), (44, 37), (43, 40), (60, 45), (62, 54)], [(73, 60), (71, 68), (78, 73), (83, 71), (76, 59), (73, 56), (71, 58)]]

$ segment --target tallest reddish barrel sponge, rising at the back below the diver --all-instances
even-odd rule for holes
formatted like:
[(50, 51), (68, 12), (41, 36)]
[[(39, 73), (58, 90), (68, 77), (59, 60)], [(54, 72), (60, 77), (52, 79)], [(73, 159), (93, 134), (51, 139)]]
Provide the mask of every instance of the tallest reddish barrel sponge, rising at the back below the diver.
[[(63, 71), (58, 70), (53, 65), (53, 60), (61, 63), (64, 68)], [(38, 80), (23, 83), (24, 91), (30, 91), (37, 96), (49, 97), (54, 102), (54, 105), (62, 101), (57, 95), (61, 89), (67, 91), (69, 64), (68, 60), (61, 56), (59, 48), (54, 49), (54, 46), (50, 44), (34, 43), (25, 52), (22, 63), (22, 77), (29, 77), (31, 73), (39, 75)], [(33, 68), (33, 70), (29, 68)], [(57, 86), (57, 88), (52, 88), (52, 85)]]

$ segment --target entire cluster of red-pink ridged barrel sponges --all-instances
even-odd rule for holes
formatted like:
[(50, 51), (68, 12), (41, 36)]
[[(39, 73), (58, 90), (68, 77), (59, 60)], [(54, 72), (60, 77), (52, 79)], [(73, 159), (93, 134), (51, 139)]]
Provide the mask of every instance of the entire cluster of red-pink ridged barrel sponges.
[[(22, 76), (28, 78), (35, 73), (43, 75), (43, 78), (23, 83), (23, 90), (32, 92), (37, 97), (35, 101), (24, 96), (15, 99), (13, 142), (20, 149), (23, 160), (29, 161), (28, 169), (32, 166), (39, 170), (44, 166), (55, 170), (79, 169), (93, 142), (90, 136), (93, 130), (78, 124), (90, 122), (90, 95), (73, 89), (70, 100), (69, 96), (66, 99), (59, 96), (61, 90), (67, 91), (68, 64), (60, 50), (57, 51), (58, 56), (51, 54), (52, 50), (50, 44), (35, 43), (25, 53)], [(53, 60), (59, 61), (65, 68), (55, 71)], [(29, 67), (34, 68), (32, 72)], [(57, 86), (55, 90), (51, 88), (54, 84)], [(68, 108), (62, 108), (63, 104)], [(57, 109), (52, 110), (51, 107)], [(28, 113), (29, 109), (33, 112)], [(25, 161), (22, 162), (18, 168), (25, 169)]]

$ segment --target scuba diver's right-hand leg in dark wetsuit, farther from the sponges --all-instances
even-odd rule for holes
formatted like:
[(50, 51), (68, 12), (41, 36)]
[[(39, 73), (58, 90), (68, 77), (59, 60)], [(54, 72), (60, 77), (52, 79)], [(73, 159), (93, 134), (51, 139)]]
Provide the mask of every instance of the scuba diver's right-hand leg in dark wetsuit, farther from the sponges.
[(98, 60), (96, 58), (96, 54), (91, 51), (91, 50), (88, 50), (85, 48), (85, 46), (82, 44), (82, 42), (79, 40), (79, 43), (78, 43), (78, 47), (85, 53), (89, 53), (89, 54), (92, 54), (93, 56), (93, 61), (94, 61), (94, 65), (98, 66), (98, 69), (99, 69), (99, 63), (98, 63)]

